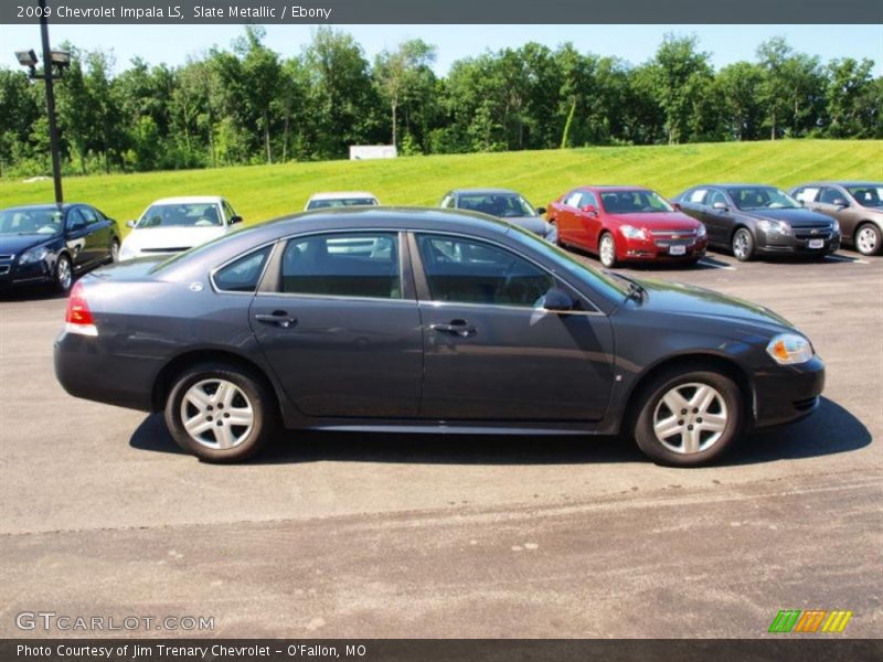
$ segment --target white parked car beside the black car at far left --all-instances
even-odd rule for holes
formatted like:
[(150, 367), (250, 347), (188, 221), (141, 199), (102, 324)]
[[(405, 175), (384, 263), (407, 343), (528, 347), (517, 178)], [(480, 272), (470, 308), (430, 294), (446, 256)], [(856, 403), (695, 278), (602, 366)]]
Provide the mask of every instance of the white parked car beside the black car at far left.
[(189, 250), (230, 232), (242, 222), (230, 203), (216, 195), (163, 197), (152, 203), (123, 241), (120, 259)]

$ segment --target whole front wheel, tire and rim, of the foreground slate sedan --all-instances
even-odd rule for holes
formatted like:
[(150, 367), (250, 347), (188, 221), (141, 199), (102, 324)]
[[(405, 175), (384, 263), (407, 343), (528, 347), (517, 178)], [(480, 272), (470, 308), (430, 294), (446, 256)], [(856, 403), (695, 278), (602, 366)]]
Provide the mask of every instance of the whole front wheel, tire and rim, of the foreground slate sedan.
[(742, 393), (726, 375), (708, 370), (669, 372), (645, 391), (635, 440), (658, 463), (704, 465), (738, 438), (743, 410)]

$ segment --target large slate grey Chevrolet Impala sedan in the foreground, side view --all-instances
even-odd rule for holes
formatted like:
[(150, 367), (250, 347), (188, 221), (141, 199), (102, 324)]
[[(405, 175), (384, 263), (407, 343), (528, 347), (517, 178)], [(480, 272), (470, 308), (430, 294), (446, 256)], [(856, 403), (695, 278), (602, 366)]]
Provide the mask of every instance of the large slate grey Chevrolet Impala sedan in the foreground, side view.
[(75, 286), (72, 395), (164, 410), (212, 461), (297, 429), (634, 436), (694, 466), (818, 405), (810, 342), (759, 306), (611, 276), (465, 212), (329, 211)]

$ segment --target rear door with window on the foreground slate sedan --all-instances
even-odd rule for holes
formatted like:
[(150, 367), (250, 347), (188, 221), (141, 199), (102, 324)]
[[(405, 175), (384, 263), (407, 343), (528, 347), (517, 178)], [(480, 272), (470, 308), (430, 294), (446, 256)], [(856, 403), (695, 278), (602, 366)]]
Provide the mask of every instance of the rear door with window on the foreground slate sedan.
[(251, 325), (304, 414), (417, 415), (423, 331), (402, 246), (397, 232), (320, 233), (274, 257)]

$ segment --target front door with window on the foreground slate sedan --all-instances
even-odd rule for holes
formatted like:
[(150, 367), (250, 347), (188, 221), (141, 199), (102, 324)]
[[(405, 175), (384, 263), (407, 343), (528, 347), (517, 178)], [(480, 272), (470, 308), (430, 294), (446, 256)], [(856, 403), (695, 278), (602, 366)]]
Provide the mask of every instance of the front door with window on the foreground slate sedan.
[[(598, 420), (613, 382), (606, 316), (541, 307), (554, 276), (508, 248), (415, 235), (424, 330), (421, 417)], [(576, 296), (574, 293), (574, 296)]]

